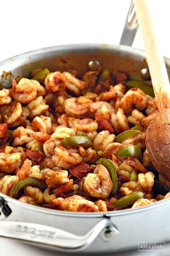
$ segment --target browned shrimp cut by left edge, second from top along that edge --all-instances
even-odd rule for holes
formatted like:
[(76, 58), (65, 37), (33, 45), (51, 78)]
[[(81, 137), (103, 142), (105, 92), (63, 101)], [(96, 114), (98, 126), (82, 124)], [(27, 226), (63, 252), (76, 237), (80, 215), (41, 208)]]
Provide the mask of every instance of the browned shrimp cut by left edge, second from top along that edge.
[(20, 102), (12, 101), (8, 105), (0, 105), (0, 115), (5, 124), (9, 125), (20, 118), (22, 106)]

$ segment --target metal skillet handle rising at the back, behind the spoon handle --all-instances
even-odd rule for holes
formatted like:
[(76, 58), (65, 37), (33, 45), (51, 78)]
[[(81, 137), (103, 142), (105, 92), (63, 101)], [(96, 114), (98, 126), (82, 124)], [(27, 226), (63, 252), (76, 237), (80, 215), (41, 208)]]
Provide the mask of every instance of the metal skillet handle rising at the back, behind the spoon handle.
[(132, 46), (138, 27), (138, 19), (136, 17), (133, 0), (131, 0), (130, 8), (128, 10), (128, 14), (125, 20), (125, 26), (119, 44)]

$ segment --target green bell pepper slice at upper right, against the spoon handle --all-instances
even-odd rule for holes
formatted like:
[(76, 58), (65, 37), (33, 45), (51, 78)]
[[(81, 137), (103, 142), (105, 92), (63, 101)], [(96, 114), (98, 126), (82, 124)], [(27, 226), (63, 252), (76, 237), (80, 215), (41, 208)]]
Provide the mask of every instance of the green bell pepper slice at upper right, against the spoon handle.
[(139, 81), (130, 80), (126, 83), (126, 85), (129, 86), (129, 87), (132, 87), (132, 88), (139, 88), (144, 93), (146, 93), (146, 94), (148, 94), (152, 97), (155, 97), (153, 88), (149, 84), (139, 82)]

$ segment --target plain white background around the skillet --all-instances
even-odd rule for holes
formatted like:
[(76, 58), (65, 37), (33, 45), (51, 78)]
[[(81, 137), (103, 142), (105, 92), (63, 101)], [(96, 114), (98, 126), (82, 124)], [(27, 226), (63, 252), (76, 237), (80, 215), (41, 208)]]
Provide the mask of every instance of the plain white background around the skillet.
[[(170, 1), (149, 1), (162, 54), (170, 58)], [(3, 0), (0, 3), (0, 61), (54, 45), (119, 44), (129, 5), (130, 0)], [(144, 49), (140, 29), (133, 47)], [(167, 249), (161, 254), (150, 252), (149, 255), (170, 255)], [(0, 255), (59, 254), (0, 238)], [(137, 255), (137, 251), (131, 255)]]

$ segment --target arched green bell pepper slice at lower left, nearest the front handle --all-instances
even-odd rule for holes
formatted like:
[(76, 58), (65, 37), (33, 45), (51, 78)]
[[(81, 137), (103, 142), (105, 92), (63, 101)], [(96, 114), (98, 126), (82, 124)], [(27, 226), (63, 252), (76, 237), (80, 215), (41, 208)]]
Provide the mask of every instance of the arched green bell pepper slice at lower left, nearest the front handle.
[(13, 185), (13, 187), (9, 191), (9, 196), (11, 196), (13, 198), (17, 198), (18, 192), (27, 185), (38, 187), (42, 191), (45, 189), (45, 181), (44, 180), (34, 178), (34, 177), (28, 177), (28, 178), (18, 181), (15, 185)]

